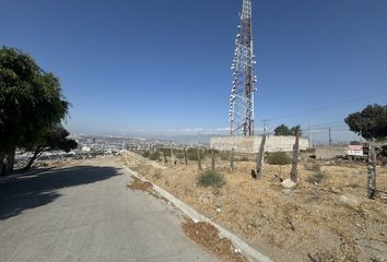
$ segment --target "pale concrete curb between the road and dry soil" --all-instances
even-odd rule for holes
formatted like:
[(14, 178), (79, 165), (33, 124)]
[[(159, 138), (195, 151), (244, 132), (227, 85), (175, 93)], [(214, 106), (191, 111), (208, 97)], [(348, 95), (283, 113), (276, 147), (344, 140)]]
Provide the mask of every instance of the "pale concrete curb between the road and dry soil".
[[(130, 175), (133, 175), (134, 177), (141, 179), (142, 181), (149, 181), (148, 179), (142, 177), (139, 172), (131, 170), (129, 167), (125, 166), (124, 164), (121, 164), (121, 165), (125, 169), (127, 169), (130, 172)], [(234, 234), (232, 234), (227, 229), (213, 223), (210, 218), (203, 216), (202, 214), (200, 214), (199, 212), (197, 212), (196, 210), (194, 210), (192, 207), (190, 207), (186, 203), (184, 203), (180, 200), (178, 200), (177, 198), (175, 198), (173, 194), (168, 193), (164, 189), (154, 184), (152, 181), (149, 181), (149, 182), (151, 182), (153, 184), (154, 191), (156, 191), (162, 196), (164, 196), (169, 202), (172, 202), (177, 209), (183, 211), (183, 213), (185, 213), (187, 216), (189, 216), (192, 221), (207, 222), (207, 223), (210, 223), (211, 225), (213, 225), (214, 227), (216, 227), (218, 230), (220, 231), (220, 236), (230, 239), (231, 242), (234, 245), (234, 247), (239, 249), (241, 252), (243, 254), (245, 254), (250, 261), (253, 261), (253, 262), (272, 262), (272, 260), (270, 260), (268, 257), (266, 257), (265, 254), (260, 253), (256, 249), (248, 246), (245, 241), (243, 241), (241, 238), (238, 238), (237, 236), (235, 236)]]

